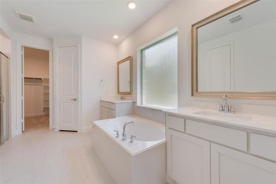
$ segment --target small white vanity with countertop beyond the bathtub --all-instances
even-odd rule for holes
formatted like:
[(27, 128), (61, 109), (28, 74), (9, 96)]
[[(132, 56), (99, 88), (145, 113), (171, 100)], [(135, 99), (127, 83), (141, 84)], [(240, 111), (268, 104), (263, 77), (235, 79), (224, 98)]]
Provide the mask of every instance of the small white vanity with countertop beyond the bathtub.
[(133, 100), (101, 99), (102, 120), (134, 114)]

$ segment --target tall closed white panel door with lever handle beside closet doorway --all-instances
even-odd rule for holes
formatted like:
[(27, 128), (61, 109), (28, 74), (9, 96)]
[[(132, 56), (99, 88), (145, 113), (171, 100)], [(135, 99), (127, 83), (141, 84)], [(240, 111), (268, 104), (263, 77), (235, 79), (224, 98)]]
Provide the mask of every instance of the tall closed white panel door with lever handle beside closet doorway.
[(58, 48), (58, 129), (77, 131), (77, 47)]

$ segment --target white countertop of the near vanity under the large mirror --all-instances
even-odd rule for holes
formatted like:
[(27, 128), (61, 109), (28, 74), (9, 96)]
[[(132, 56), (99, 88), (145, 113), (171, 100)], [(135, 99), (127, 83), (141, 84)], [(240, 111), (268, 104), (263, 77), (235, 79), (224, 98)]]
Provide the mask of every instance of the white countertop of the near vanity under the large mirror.
[[(219, 113), (216, 110), (209, 110), (209, 109), (200, 109), (200, 108), (193, 108), (193, 107), (181, 107), (176, 109), (167, 109), (163, 110), (165, 113), (180, 115), (190, 118), (196, 118), (199, 120), (204, 121), (212, 121), (216, 123), (221, 123), (225, 125), (233, 125), (237, 127), (243, 128), (250, 128), (253, 130), (259, 130), (264, 132), (270, 132), (276, 134), (276, 117), (272, 116), (261, 116), (261, 115), (253, 115), (253, 114), (243, 114), (243, 113), (236, 113), (236, 114), (229, 114), (229, 113), (221, 113), (219, 116), (206, 116), (203, 114), (196, 114), (200, 111), (208, 111), (210, 113), (217, 114)], [(223, 116), (225, 114), (225, 117)], [(251, 120), (248, 119), (235, 119), (235, 117), (251, 117)]]

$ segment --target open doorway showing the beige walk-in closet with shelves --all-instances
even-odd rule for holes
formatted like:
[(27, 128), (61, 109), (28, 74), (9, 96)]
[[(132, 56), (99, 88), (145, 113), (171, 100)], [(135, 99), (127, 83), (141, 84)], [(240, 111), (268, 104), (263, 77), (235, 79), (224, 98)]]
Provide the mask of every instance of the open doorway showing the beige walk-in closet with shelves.
[(49, 129), (49, 51), (22, 47), (24, 119), (22, 131)]

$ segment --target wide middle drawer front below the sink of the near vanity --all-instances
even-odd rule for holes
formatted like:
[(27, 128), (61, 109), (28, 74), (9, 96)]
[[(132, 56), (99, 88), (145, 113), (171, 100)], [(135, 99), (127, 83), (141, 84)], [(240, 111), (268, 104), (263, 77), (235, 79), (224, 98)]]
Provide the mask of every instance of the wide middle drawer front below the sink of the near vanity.
[(247, 132), (186, 120), (186, 132), (220, 144), (247, 151)]

